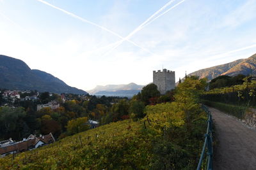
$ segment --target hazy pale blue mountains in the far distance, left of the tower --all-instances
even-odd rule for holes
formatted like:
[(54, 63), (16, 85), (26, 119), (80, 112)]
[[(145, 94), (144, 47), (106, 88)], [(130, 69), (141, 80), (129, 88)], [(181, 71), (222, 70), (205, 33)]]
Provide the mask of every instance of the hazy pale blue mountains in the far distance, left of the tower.
[(88, 90), (89, 94), (97, 96), (127, 96), (131, 97), (138, 94), (144, 85), (129, 83), (127, 85), (97, 85), (94, 89)]

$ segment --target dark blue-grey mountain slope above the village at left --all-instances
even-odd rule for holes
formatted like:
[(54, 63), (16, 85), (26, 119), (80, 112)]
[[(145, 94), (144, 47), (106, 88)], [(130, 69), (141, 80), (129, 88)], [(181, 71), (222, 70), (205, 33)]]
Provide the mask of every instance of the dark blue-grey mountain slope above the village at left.
[(52, 74), (30, 69), (22, 60), (6, 55), (0, 55), (0, 89), (87, 94), (84, 90), (68, 86)]

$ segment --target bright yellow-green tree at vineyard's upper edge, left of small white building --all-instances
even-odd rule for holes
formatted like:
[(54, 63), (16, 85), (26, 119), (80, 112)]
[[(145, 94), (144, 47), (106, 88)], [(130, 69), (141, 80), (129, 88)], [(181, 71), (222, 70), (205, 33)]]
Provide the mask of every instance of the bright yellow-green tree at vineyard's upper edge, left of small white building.
[(72, 134), (86, 131), (89, 128), (90, 126), (88, 125), (88, 118), (81, 117), (81, 118), (76, 118), (68, 121), (67, 132), (68, 134), (72, 135)]

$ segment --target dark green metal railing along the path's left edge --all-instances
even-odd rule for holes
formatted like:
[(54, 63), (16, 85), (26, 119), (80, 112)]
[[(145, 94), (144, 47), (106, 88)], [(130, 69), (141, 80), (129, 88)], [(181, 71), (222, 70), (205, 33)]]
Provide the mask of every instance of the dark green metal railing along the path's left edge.
[[(207, 170), (212, 170), (212, 115), (206, 106), (203, 105), (202, 108), (208, 115), (207, 131), (205, 134), (204, 146), (202, 148), (200, 160), (198, 162), (196, 170), (202, 169), (202, 166), (206, 166)], [(207, 153), (207, 157), (204, 157), (205, 152)], [(204, 160), (205, 158), (207, 159)]]

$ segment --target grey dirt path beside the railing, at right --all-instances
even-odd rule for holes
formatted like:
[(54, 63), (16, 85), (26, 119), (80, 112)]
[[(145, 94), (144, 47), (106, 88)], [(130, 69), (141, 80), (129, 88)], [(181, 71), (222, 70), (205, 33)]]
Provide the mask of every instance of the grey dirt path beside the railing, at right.
[(256, 169), (256, 130), (245, 127), (236, 118), (209, 108), (218, 144), (214, 150), (214, 170)]

